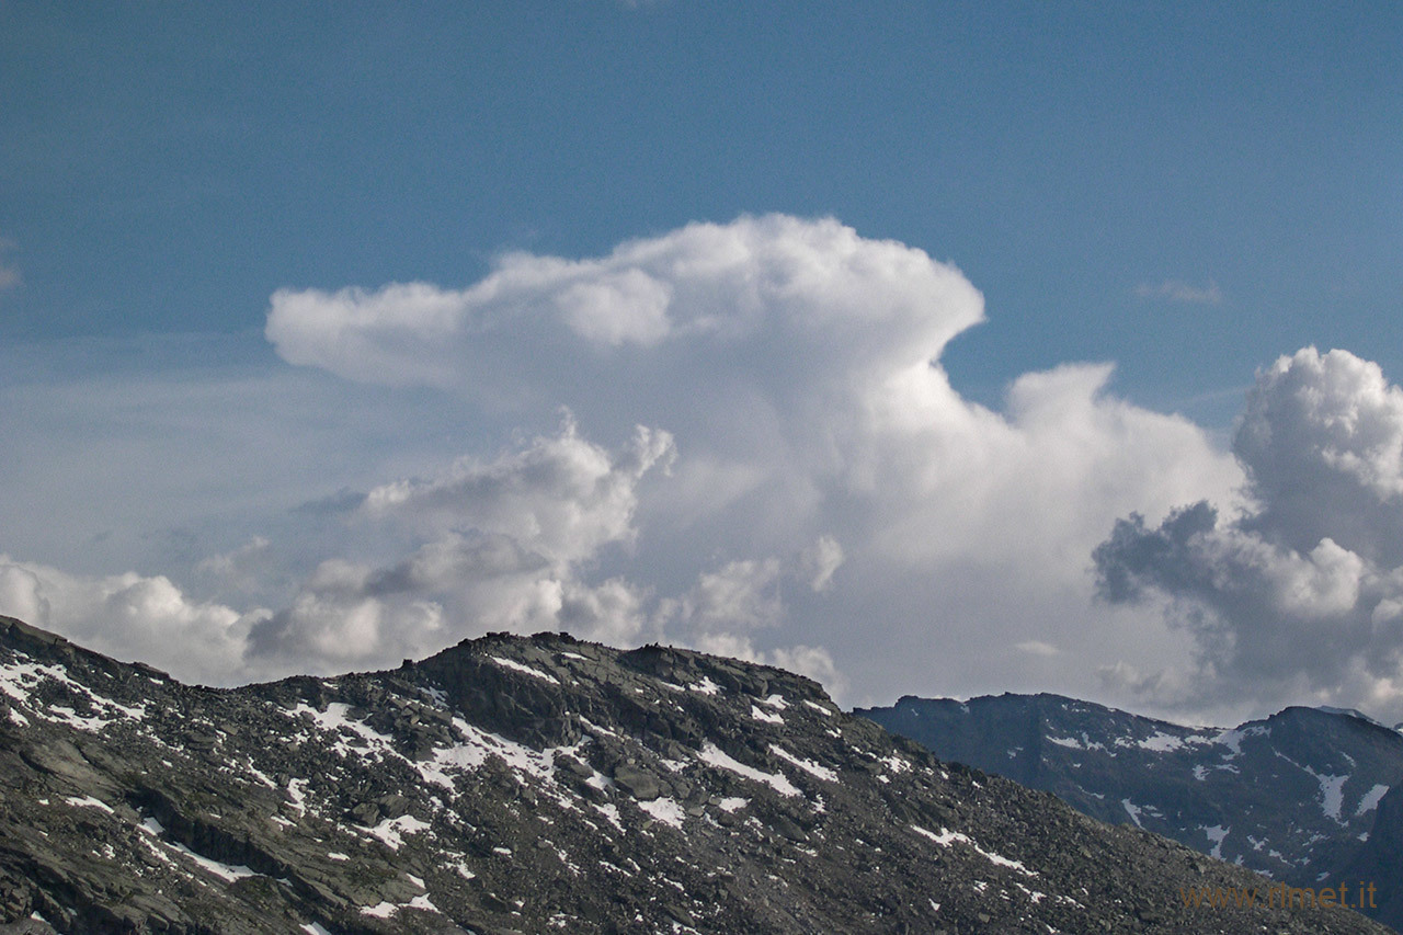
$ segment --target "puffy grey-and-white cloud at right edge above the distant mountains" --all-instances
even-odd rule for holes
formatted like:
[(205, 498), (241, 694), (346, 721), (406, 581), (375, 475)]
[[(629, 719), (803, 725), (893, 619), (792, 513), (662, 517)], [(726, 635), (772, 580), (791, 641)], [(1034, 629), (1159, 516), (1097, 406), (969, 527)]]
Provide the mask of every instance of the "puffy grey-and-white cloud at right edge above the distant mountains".
[(1233, 452), (1246, 500), (1118, 519), (1094, 550), (1101, 595), (1166, 599), (1194, 635), (1176, 692), (1191, 678), (1226, 701), (1392, 699), (1403, 716), (1403, 392), (1368, 361), (1305, 348), (1257, 375)]

